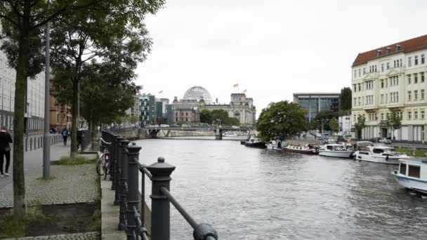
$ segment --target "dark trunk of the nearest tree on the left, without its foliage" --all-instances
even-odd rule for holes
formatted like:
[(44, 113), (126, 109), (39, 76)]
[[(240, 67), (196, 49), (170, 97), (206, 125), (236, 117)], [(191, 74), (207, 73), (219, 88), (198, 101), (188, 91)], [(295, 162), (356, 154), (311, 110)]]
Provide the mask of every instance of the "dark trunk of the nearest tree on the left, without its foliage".
[[(26, 19), (28, 20), (28, 19)], [(24, 173), (24, 113), (27, 93), (28, 26), (22, 27), (18, 45), (18, 62), (15, 81), (15, 110), (13, 115), (13, 218), (22, 220), (25, 216), (25, 173)], [(46, 119), (45, 119), (46, 121)], [(47, 120), (48, 121), (48, 120)]]

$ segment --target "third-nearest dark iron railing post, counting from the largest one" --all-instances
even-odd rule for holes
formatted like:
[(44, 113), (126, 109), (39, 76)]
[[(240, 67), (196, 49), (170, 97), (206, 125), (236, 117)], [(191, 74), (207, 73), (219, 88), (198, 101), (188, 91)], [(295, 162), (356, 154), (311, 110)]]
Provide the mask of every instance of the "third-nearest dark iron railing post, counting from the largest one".
[(129, 140), (121, 140), (120, 144), (120, 164), (119, 164), (119, 187), (116, 192), (119, 192), (119, 226), (117, 227), (120, 231), (126, 229), (126, 223), (124, 218), (126, 215), (126, 185), (128, 179), (128, 155), (126, 153), (126, 147), (129, 145)]

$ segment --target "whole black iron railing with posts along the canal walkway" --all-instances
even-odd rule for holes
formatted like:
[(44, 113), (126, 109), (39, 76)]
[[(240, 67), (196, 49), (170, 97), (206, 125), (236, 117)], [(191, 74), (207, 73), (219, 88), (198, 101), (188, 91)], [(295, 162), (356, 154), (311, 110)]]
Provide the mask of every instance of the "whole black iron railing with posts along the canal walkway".
[[(218, 234), (213, 227), (206, 223), (198, 223), (170, 192), (171, 173), (175, 166), (166, 163), (164, 158), (159, 157), (157, 162), (145, 166), (139, 161), (141, 147), (129, 145), (129, 140), (114, 133), (102, 132), (102, 138), (112, 142), (110, 147), (110, 180), (112, 189), (115, 191), (114, 205), (119, 205), (118, 229), (126, 231), (127, 239), (170, 239), (170, 204), (175, 206), (183, 218), (187, 220), (193, 229), (195, 240), (215, 240)], [(138, 193), (138, 173), (141, 173), (141, 200)], [(145, 176), (152, 181), (151, 189), (151, 231), (145, 224)], [(139, 210), (139, 206), (141, 209)]]

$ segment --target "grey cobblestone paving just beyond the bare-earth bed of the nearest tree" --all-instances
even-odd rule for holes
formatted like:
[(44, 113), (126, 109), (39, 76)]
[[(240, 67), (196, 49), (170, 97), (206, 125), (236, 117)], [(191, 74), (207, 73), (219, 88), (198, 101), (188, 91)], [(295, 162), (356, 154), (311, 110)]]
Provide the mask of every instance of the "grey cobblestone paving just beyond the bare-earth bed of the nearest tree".
[[(43, 180), (41, 168), (25, 174), (28, 205), (75, 204), (99, 199), (96, 164), (51, 166), (52, 179)], [(98, 181), (97, 181), (98, 180)], [(0, 190), (0, 207), (13, 206), (13, 183)]]

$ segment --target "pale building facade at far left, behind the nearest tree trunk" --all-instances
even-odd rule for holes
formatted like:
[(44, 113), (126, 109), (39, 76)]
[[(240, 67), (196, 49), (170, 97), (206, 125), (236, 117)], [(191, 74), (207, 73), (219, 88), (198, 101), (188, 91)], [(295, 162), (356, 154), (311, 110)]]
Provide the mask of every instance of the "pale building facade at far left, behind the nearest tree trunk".
[[(0, 43), (1, 44), (1, 43)], [(7, 66), (7, 57), (0, 51), (0, 125), (13, 129), (15, 104), (15, 69)], [(27, 81), (27, 106), (25, 128), (28, 133), (37, 133), (44, 128), (44, 72)], [(24, 104), (24, 103), (22, 103)]]

